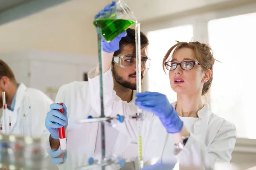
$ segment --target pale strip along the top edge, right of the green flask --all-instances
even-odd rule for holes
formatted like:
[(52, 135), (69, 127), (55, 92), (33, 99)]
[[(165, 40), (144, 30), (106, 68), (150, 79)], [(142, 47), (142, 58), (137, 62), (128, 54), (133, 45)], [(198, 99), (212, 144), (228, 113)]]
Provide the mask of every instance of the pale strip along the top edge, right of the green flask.
[(152, 23), (181, 13), (198, 14), (218, 8), (228, 8), (255, 0), (125, 0), (142, 23)]

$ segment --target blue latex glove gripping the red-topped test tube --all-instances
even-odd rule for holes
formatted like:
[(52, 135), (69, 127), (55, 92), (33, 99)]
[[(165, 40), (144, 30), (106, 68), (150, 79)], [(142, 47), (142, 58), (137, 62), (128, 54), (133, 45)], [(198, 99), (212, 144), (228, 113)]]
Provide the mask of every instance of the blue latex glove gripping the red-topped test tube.
[(49, 111), (46, 115), (45, 126), (47, 130), (51, 133), (52, 138), (59, 139), (58, 129), (62, 126), (67, 128), (67, 107), (63, 103), (63, 113), (57, 111), (57, 109), (61, 109), (62, 105), (57, 103), (52, 103), (50, 105), (51, 111)]

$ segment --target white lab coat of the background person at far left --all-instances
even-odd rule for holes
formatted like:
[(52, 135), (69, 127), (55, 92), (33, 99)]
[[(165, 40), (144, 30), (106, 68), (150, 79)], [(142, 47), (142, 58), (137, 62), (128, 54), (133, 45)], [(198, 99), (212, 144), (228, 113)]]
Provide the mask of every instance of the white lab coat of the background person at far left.
[[(30, 110), (28, 109), (29, 112), (26, 113), (24, 109), (25, 97), (28, 97), (29, 99), (26, 106), (30, 106)], [(44, 137), (44, 135), (47, 135), (47, 132), (44, 132), (44, 120), (46, 113), (49, 111), (49, 106), (53, 103), (52, 100), (42, 91), (35, 88), (27, 88), (23, 83), (21, 83), (17, 88), (15, 100), (14, 111), (6, 109), (7, 132), (9, 130), (9, 116), (11, 116), (10, 134), (22, 135), (23, 113), (25, 113), (24, 135), (31, 135), (34, 138)], [(4, 119), (3, 122), (5, 122)], [(4, 127), (3, 133), (5, 133)]]

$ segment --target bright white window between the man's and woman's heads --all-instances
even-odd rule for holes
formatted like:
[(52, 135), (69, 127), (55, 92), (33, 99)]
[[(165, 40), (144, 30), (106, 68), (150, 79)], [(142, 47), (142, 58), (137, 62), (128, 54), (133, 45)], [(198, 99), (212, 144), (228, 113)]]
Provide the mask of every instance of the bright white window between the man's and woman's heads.
[(148, 57), (151, 58), (148, 70), (148, 90), (166, 94), (170, 102), (175, 102), (176, 93), (170, 86), (168, 70), (163, 71), (162, 63), (166, 52), (177, 41), (189, 42), (193, 37), (193, 26), (177, 26), (148, 32)]

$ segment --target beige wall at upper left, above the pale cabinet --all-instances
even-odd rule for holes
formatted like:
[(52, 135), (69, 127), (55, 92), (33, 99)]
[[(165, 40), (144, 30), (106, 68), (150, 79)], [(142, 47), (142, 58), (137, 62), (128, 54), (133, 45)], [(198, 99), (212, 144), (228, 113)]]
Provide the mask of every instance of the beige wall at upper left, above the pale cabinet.
[[(92, 3), (93, 2), (93, 3)], [(0, 53), (33, 48), (97, 55), (95, 13), (107, 0), (70, 0), (59, 6), (0, 26)]]

